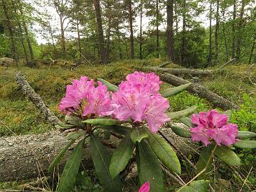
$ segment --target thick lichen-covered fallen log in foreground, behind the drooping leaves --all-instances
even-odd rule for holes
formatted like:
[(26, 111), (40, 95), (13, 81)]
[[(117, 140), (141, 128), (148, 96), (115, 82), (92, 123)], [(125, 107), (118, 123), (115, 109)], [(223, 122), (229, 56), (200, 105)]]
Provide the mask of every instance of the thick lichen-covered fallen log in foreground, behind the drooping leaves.
[[(164, 129), (164, 133), (183, 154), (195, 153), (196, 145), (190, 139), (176, 136), (171, 129)], [(119, 139), (111, 137), (110, 141), (112, 145), (117, 145)], [(67, 143), (65, 134), (57, 131), (38, 135), (0, 137), (0, 182), (47, 176), (48, 166)], [(59, 172), (63, 169), (72, 149), (73, 146), (60, 161)], [(82, 164), (85, 169), (92, 168), (90, 144), (85, 146)]]

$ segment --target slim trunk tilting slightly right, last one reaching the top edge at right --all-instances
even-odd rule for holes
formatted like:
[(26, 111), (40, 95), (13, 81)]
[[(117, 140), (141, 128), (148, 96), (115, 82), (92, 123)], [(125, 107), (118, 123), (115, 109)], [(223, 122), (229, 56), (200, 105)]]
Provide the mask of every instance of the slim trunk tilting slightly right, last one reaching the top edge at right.
[(240, 54), (241, 54), (241, 43), (242, 43), (242, 26), (244, 24), (243, 15), (245, 12), (245, 0), (242, 0), (241, 10), (240, 10), (240, 16), (239, 16), (239, 22), (238, 22), (238, 41), (237, 41), (237, 48), (235, 53), (235, 58), (239, 60)]

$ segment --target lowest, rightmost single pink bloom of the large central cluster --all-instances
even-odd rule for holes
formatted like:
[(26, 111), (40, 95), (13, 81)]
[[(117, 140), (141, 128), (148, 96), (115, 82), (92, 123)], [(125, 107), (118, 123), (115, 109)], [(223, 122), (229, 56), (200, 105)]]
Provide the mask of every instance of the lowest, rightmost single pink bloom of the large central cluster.
[(157, 132), (159, 127), (171, 120), (164, 112), (169, 108), (169, 102), (161, 95), (151, 96), (149, 106), (146, 107), (146, 122), (151, 132)]

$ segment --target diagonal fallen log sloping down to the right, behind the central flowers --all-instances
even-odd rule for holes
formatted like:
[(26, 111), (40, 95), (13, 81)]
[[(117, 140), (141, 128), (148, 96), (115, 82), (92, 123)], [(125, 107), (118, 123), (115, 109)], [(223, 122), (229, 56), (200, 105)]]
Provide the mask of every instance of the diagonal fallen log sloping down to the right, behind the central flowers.
[[(178, 86), (188, 83), (188, 80), (184, 80), (182, 78), (178, 78), (175, 75), (171, 75), (169, 73), (164, 73), (159, 75), (160, 79), (164, 82), (168, 82), (171, 85)], [(191, 83), (186, 89), (188, 92), (198, 95), (199, 97), (205, 98), (206, 100), (210, 101), (216, 107), (220, 107), (223, 110), (235, 109), (238, 110), (240, 107), (235, 105), (233, 102), (226, 100), (223, 97), (220, 97), (215, 92), (208, 90), (203, 85), (198, 83)]]

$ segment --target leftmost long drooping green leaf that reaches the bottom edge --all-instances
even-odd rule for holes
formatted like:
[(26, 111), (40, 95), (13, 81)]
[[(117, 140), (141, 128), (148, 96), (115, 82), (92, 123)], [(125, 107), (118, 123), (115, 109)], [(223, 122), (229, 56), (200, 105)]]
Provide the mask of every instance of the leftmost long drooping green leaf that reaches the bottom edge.
[(70, 154), (60, 177), (57, 192), (70, 192), (75, 186), (75, 179), (78, 175), (80, 162), (82, 161), (83, 143), (84, 139), (75, 146), (74, 151)]

